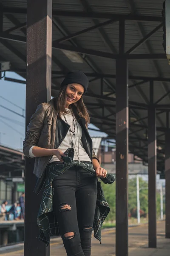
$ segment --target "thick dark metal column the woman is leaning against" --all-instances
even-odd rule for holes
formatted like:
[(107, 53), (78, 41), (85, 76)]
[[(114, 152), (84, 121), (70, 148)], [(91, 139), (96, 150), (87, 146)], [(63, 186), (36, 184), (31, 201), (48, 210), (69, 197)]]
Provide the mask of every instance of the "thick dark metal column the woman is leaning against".
[[(27, 0), (26, 127), (37, 105), (51, 99), (52, 0)], [(26, 157), (24, 256), (49, 256), (39, 241), (37, 214), (42, 193), (33, 192), (34, 159)]]

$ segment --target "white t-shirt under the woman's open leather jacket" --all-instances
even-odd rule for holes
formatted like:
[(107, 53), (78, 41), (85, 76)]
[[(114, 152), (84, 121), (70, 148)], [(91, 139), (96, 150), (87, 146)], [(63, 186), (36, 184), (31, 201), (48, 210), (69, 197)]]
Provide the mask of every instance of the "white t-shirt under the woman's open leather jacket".
[[(66, 108), (66, 110), (70, 111), (68, 108)], [(64, 113), (64, 114), (65, 114), (65, 118), (68, 122), (68, 125), (71, 126), (70, 127), (71, 131), (74, 131), (71, 111), (68, 114), (67, 113)], [(62, 118), (63, 121), (65, 121), (63, 114), (61, 115), (61, 118)], [(82, 145), (82, 141), (81, 141), (82, 128), (79, 125), (79, 122), (77, 122), (75, 117), (74, 117), (74, 123), (75, 123), (75, 137), (73, 136), (72, 132), (71, 132), (71, 136), (70, 136), (70, 132), (68, 131), (64, 140), (59, 145), (59, 149), (64, 153), (67, 150), (67, 148), (71, 148), (71, 137), (72, 137), (74, 147), (75, 147), (74, 148), (74, 159), (73, 160), (90, 161), (91, 162), (90, 157), (88, 156), (87, 152), (85, 151), (85, 149), (83, 148), (83, 145)], [(77, 127), (78, 127), (78, 130), (77, 130)], [(79, 150), (78, 150), (78, 146), (79, 146)], [(29, 150), (29, 157), (35, 157), (34, 154), (32, 153), (32, 148), (34, 148), (34, 146), (32, 146)], [(78, 156), (79, 156), (79, 158), (78, 158)], [(59, 161), (59, 159), (58, 159), (58, 157), (53, 155), (51, 157), (51, 160), (49, 161), (49, 163), (56, 162), (56, 161)]]

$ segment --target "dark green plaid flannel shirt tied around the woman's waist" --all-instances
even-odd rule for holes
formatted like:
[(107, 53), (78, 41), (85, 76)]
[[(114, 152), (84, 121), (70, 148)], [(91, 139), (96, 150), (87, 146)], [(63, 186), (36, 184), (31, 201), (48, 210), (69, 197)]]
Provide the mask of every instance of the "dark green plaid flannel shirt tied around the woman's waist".
[[(37, 223), (40, 228), (39, 231), (39, 239), (40, 241), (45, 242), (45, 244), (49, 244), (50, 236), (61, 236), (57, 219), (54, 216), (53, 212), (53, 195), (54, 189), (52, 188), (52, 182), (54, 177), (58, 177), (69, 168), (73, 166), (80, 166), (82, 169), (85, 169), (91, 174), (96, 175), (96, 172), (93, 168), (92, 163), (82, 163), (77, 161), (72, 161), (70, 163), (61, 163), (55, 164), (55, 162), (46, 169), (46, 180), (45, 180), (45, 187), (42, 195), (42, 201), (40, 204), (39, 213), (37, 216)], [(97, 178), (97, 177), (96, 177)], [(101, 178), (101, 180), (106, 183), (113, 183), (115, 181), (115, 177), (111, 174), (107, 174), (105, 178)], [(101, 227), (103, 221), (107, 217), (110, 207), (108, 202), (105, 199), (103, 194), (101, 183), (97, 178), (97, 201), (96, 201), (96, 210), (94, 215), (94, 237), (100, 241), (101, 244)]]

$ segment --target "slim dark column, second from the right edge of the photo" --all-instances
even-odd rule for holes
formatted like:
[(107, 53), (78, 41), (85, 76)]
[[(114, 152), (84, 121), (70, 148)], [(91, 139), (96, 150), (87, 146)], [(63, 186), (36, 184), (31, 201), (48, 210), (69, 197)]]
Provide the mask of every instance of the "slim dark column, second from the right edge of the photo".
[(153, 93), (152, 81), (148, 107), (148, 244), (156, 248), (156, 108)]

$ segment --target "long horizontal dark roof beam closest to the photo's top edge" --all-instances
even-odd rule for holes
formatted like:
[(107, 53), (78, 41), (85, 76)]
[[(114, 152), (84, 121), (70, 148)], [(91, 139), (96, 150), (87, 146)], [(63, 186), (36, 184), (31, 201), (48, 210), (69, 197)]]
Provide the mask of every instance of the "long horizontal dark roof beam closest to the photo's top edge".
[[(26, 14), (26, 8), (11, 8), (4, 7), (3, 12), (6, 14)], [(147, 15), (122, 15), (114, 13), (104, 13), (104, 12), (72, 12), (72, 11), (62, 11), (53, 10), (53, 16), (68, 16), (68, 17), (89, 17), (94, 19), (113, 19), (116, 20), (137, 20), (137, 21), (156, 21), (161, 22), (161, 16), (147, 16)]]

